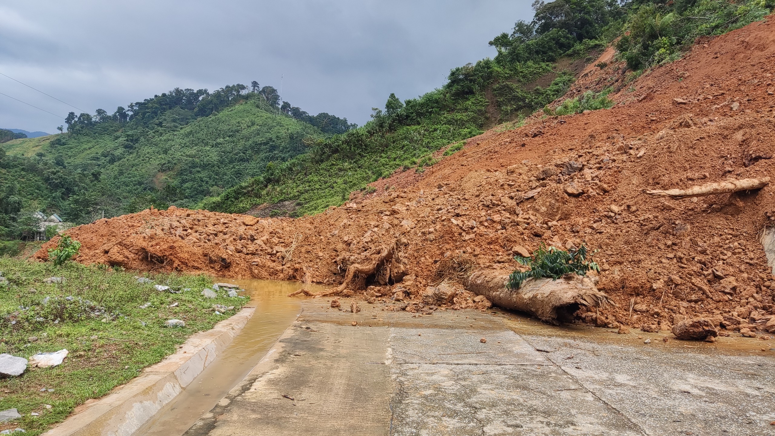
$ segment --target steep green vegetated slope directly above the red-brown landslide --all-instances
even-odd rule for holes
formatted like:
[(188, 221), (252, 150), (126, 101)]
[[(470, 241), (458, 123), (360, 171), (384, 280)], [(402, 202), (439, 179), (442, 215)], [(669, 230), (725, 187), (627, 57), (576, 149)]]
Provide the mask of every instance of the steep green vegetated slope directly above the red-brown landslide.
[[(365, 126), (320, 138), (308, 153), (271, 164), (263, 175), (202, 206), (242, 213), (265, 202), (290, 201), (297, 206), (294, 215), (319, 212), (398, 168), (422, 171), (434, 163), (433, 152), (488, 126), (517, 126), (569, 88), (574, 74), (563, 65), (591, 61), (612, 41), (637, 75), (677, 59), (696, 37), (763, 19), (772, 7), (773, 0), (536, 0), (531, 22), (518, 21), (512, 33), (490, 41), (498, 50), (494, 59), (454, 68), (446, 84), (417, 99), (401, 102), (390, 95)], [(610, 104), (607, 93), (592, 96), (592, 109)], [(563, 105), (567, 108), (586, 109)]]

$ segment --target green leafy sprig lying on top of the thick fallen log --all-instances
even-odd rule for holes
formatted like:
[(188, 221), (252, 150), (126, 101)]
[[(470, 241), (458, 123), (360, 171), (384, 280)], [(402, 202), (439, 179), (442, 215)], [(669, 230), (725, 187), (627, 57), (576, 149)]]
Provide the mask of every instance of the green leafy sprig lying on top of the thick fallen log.
[(541, 244), (538, 250), (533, 251), (532, 258), (516, 256), (515, 260), (522, 265), (529, 266), (525, 272), (515, 271), (508, 276), (508, 289), (519, 289), (519, 286), (527, 279), (560, 279), (566, 274), (586, 275), (587, 271), (599, 272), (598, 264), (592, 261), (592, 254), (587, 247), (581, 244), (577, 251), (563, 251), (559, 248)]

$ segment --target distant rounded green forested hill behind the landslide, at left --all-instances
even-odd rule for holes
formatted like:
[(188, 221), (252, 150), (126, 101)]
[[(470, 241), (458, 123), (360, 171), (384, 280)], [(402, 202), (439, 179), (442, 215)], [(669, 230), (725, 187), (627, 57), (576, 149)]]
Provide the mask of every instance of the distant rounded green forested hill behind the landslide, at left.
[(30, 234), (36, 210), (85, 223), (151, 205), (195, 206), (353, 128), (281, 102), (256, 82), (215, 92), (175, 88), (112, 114), (71, 112), (64, 121), (67, 133), (0, 149), (0, 237)]

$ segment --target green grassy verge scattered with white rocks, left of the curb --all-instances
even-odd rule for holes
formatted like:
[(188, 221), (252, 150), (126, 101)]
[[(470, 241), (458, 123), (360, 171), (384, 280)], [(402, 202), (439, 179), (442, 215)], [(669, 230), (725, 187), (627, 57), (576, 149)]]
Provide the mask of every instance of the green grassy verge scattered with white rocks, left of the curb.
[[(0, 431), (21, 427), (32, 435), (129, 381), (247, 302), (223, 291), (205, 299), (200, 292), (212, 285), (205, 275), (160, 274), (139, 283), (134, 273), (112, 268), (75, 262), (54, 267), (13, 258), (0, 258), (0, 272), (7, 279), (0, 279), (0, 353), (29, 358), (70, 351), (62, 365), (0, 379), (0, 410), (16, 408), (22, 415), (0, 424)], [(64, 277), (64, 282), (43, 281), (49, 277)], [(158, 291), (157, 284), (183, 292)], [(233, 309), (216, 314), (214, 304)], [(173, 318), (184, 320), (185, 327), (165, 327)]]

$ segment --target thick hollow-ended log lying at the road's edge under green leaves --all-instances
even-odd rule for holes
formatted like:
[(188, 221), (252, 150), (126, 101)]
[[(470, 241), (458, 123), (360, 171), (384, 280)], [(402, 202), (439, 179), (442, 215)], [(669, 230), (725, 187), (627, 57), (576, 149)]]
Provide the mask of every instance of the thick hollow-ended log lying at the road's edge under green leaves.
[(466, 289), (485, 296), (495, 306), (520, 310), (540, 320), (559, 324), (573, 320), (581, 306), (605, 307), (613, 301), (580, 275), (561, 279), (527, 279), (519, 289), (508, 289), (508, 273), (503, 270), (481, 270), (463, 280)]

